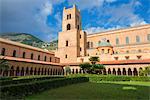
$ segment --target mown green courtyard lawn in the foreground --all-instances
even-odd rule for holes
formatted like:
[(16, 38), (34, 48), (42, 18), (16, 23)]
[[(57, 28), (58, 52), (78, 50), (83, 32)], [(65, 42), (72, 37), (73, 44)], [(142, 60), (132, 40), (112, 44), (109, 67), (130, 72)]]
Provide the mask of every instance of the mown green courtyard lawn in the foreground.
[(149, 100), (150, 82), (80, 83), (31, 95), (26, 100)]

